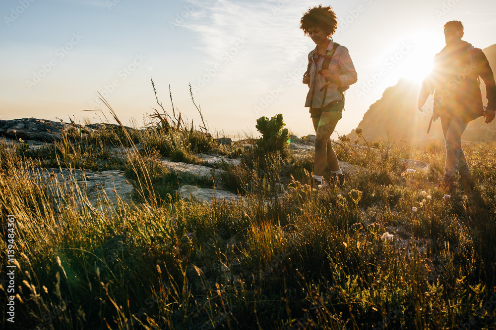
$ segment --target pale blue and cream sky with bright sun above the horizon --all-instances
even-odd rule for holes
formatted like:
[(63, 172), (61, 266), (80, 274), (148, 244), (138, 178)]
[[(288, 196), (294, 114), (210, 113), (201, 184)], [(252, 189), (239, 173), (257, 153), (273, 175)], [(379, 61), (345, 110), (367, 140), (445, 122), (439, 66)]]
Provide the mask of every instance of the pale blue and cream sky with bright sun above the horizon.
[[(283, 114), (298, 136), (313, 133), (302, 83), (315, 47), (303, 14), (331, 5), (333, 40), (348, 48), (358, 82), (346, 92), (336, 132), (348, 134), (400, 78), (421, 83), (460, 20), (463, 40), (496, 44), (495, 0), (2, 0), (0, 119), (144, 126), (159, 100), (213, 135), (257, 136), (256, 119)], [(92, 110), (92, 111), (84, 111)], [(177, 113), (176, 113), (177, 115)]]

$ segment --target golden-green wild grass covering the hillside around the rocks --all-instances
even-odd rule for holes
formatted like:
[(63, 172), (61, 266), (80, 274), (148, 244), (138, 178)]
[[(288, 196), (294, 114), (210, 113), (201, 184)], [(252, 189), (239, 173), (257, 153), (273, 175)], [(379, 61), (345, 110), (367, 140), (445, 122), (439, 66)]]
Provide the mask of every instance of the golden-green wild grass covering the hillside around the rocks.
[[(435, 189), (442, 144), (373, 141), (377, 151), (337, 147), (364, 169), (346, 187), (315, 189), (311, 153), (242, 142), (226, 150), (191, 127), (147, 124), (67, 137), (50, 151), (56, 163), (0, 146), (0, 208), (17, 221), (17, 329), (494, 328), (494, 143), (465, 150), (473, 192)], [(137, 204), (113, 205), (102, 192), (94, 208), (74, 178), (39, 174), (96, 169), (114, 147)], [(203, 204), (174, 194), (181, 178), (159, 160), (195, 162), (201, 152), (242, 154), (223, 165), (221, 186), (243, 198)], [(408, 173), (401, 158), (431, 167)]]

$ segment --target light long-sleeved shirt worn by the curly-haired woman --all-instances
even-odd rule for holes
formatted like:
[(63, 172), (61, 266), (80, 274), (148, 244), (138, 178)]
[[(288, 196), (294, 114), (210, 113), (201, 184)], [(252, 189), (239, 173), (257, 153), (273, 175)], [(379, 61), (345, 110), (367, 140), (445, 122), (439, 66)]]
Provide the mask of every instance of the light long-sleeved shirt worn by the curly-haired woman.
[[(332, 52), (332, 47), (334, 42), (331, 40), (329, 46), (327, 46), (324, 55), (327, 50)], [(329, 83), (327, 86), (327, 93), (325, 88), (322, 87), (327, 83), (327, 79), (317, 72), (322, 69), (322, 62), (324, 61), (324, 55), (320, 56), (317, 60), (317, 47), (310, 51), (309, 58), (312, 56), (312, 64), (310, 67), (310, 91), (307, 94), (307, 100), (305, 102), (306, 107), (320, 108), (326, 106), (330, 102), (337, 101), (343, 98), (342, 94), (338, 91), (338, 86)], [(334, 74), (339, 75), (339, 80), (341, 81), (340, 86), (350, 86), (357, 82), (357, 71), (351, 60), (348, 48), (344, 46), (339, 46), (332, 55), (332, 59), (329, 63), (329, 70)], [(317, 73), (317, 74), (316, 74)], [(325, 93), (325, 99), (324, 98)]]

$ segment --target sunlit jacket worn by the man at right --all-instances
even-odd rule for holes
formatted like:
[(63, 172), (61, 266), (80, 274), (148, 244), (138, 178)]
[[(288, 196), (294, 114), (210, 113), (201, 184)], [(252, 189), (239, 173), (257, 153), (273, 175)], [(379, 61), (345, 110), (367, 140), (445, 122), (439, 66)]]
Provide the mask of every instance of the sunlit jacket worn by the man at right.
[(461, 116), (465, 122), (474, 120), (484, 115), (479, 77), (486, 84), (488, 107), (494, 108), (495, 78), (482, 49), (465, 41), (446, 46), (434, 56), (433, 71), (422, 83), (419, 103), (434, 93), (434, 120), (452, 115)]

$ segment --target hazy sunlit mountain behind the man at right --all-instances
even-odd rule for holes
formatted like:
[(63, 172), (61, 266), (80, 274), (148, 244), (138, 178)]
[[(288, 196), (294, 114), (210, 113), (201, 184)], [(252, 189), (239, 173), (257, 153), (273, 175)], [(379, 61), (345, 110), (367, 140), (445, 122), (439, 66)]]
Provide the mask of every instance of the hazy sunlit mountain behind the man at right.
[[(496, 75), (496, 44), (483, 49)], [(373, 103), (358, 127), (368, 141), (412, 141), (422, 142), (432, 139), (443, 139), (441, 124), (433, 122), (430, 134), (427, 128), (432, 115), (432, 96), (428, 99), (431, 113), (421, 113), (417, 109), (420, 85), (406, 79), (400, 79), (395, 86), (388, 87), (382, 97)], [(484, 105), (486, 93), (481, 82)], [(351, 141), (357, 138), (353, 130), (349, 135)], [(496, 141), (496, 122), (486, 124), (484, 118), (478, 118), (467, 126), (462, 136), (464, 141)]]

